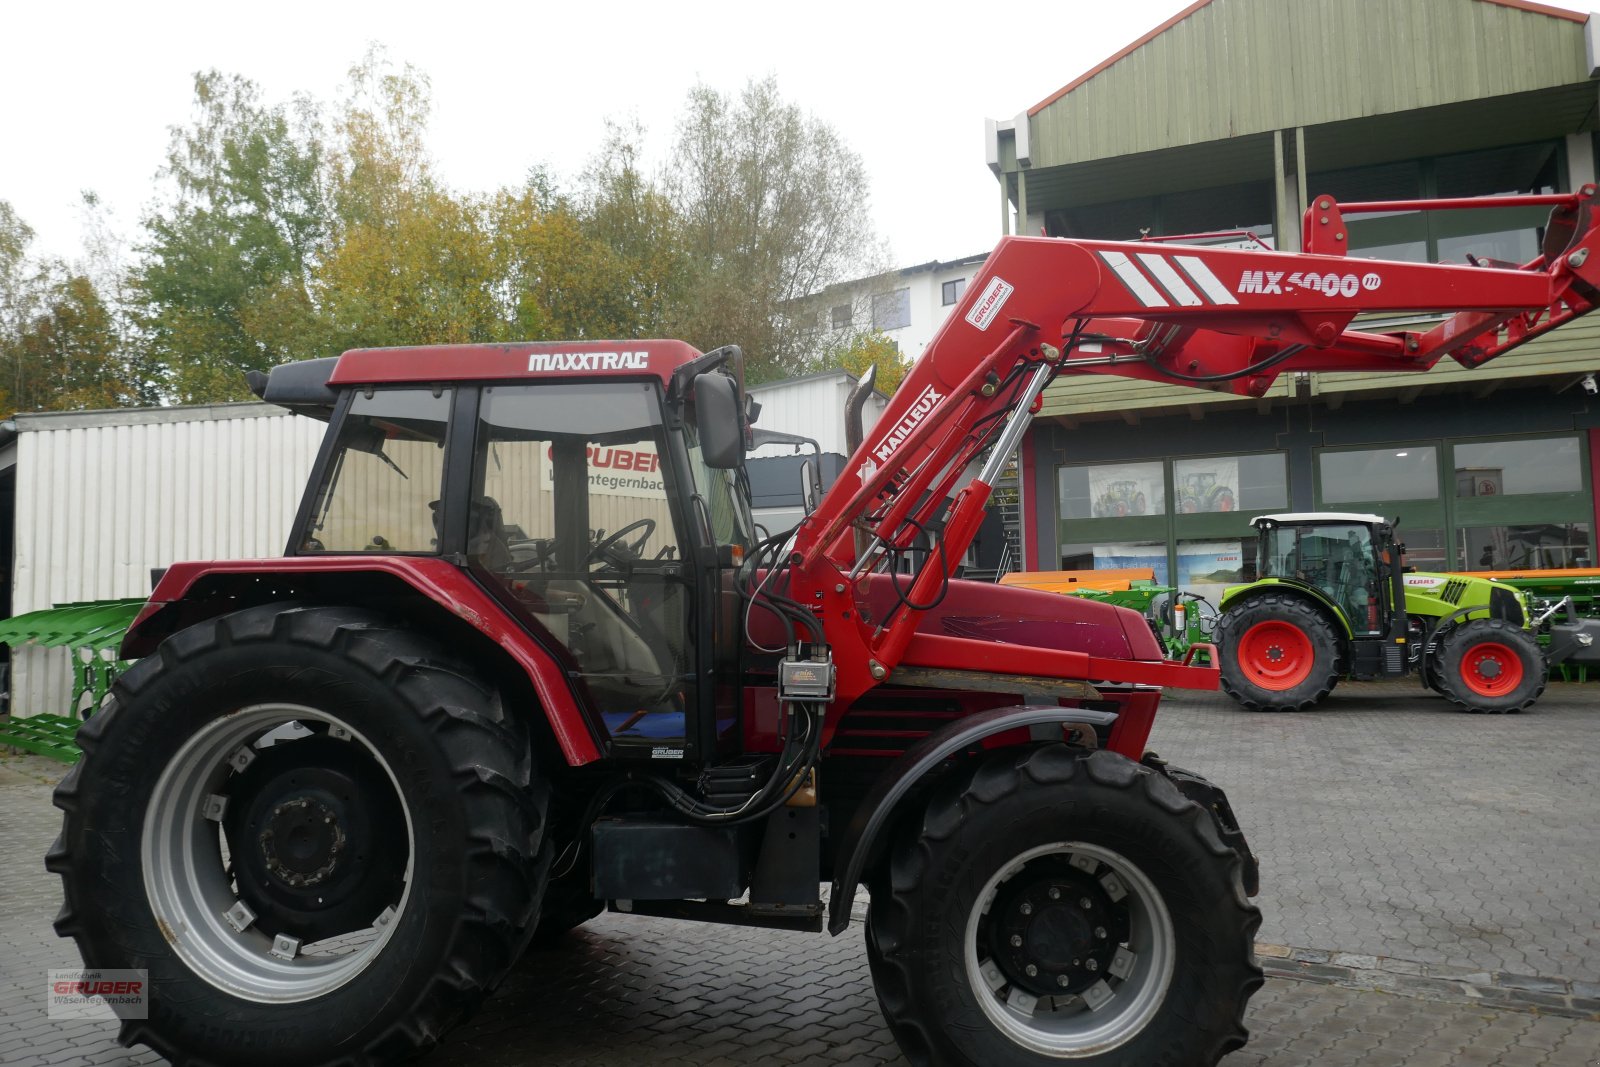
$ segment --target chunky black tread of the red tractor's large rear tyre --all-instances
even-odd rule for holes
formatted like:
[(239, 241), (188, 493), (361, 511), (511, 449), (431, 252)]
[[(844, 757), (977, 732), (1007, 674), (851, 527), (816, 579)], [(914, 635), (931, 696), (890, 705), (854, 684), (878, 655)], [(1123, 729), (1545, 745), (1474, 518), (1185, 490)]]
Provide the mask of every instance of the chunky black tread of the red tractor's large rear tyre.
[[(445, 750), (451, 784), (472, 827), (462, 848), (464, 907), (454, 917), (448, 952), (437, 971), (419, 985), (405, 1011), (395, 1013), (363, 1048), (317, 1057), (318, 1067), (378, 1067), (418, 1056), (454, 1022), (470, 1014), (501, 982), (533, 936), (539, 894), (550, 865), (546, 833), (549, 784), (533, 773), (525, 734), (501, 707), (493, 688), (470, 675), (427, 637), (402, 629), (394, 619), (363, 609), (312, 605), (264, 605), (195, 624), (166, 638), (157, 654), (123, 672), (112, 699), (78, 729), (83, 760), (62, 779), (54, 805), (62, 809), (62, 832), (46, 867), (62, 878), (64, 902), (56, 933), (72, 937), (85, 965), (112, 966), (125, 944), (98, 941), (80, 913), (93, 909), (83, 897), (80, 854), (72, 841), (83, 832), (86, 782), (93, 782), (96, 750), (115, 745), (136, 697), (173, 670), (218, 648), (290, 645), (339, 656), (390, 686), (395, 697), (426, 723)], [(90, 785), (91, 787), (91, 785)], [(200, 1067), (205, 1054), (181, 1048), (150, 1021), (125, 1021), (118, 1041), (147, 1045), (174, 1064)]]

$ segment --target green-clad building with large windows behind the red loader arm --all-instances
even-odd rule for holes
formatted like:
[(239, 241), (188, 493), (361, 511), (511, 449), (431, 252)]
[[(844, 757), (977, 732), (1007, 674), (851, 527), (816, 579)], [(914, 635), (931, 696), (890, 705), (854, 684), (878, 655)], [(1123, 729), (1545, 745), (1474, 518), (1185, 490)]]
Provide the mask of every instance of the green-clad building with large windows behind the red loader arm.
[[(1600, 19), (1522, 0), (1202, 0), (1011, 122), (1006, 229), (1235, 230), (1298, 250), (1309, 197), (1595, 181)], [(1539, 210), (1350, 222), (1350, 256), (1528, 262)], [(1246, 235), (1248, 234), (1248, 235)], [(1286, 374), (1261, 400), (1062, 378), (1021, 450), (1029, 569), (1152, 566), (1208, 592), (1253, 515), (1398, 517), (1438, 569), (1600, 566), (1600, 315), (1475, 371)]]

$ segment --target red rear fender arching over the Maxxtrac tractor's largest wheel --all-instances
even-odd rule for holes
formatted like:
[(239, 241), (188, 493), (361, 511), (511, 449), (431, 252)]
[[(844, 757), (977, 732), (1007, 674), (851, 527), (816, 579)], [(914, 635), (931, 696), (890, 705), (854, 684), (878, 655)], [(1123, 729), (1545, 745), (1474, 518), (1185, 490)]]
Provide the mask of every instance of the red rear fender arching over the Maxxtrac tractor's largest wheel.
[[(262, 603), (366, 605), (470, 654), (485, 675), (523, 689), (544, 713), (530, 718), (550, 758), (581, 766), (600, 758), (600, 744), (560, 662), (448, 560), (408, 555), (326, 555), (226, 563), (174, 563), (128, 627), (122, 656), (149, 656), (178, 630)], [(558, 753), (558, 755), (557, 755)]]

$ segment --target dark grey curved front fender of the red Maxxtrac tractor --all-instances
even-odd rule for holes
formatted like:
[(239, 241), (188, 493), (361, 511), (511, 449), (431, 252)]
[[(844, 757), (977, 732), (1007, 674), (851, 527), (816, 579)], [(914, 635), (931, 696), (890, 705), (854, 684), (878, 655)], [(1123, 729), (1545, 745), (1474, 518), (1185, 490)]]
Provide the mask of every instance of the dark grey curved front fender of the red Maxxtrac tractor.
[[(1109, 734), (1115, 712), (1059, 705), (995, 707), (958, 718), (933, 731), (885, 769), (856, 808), (834, 856), (834, 893), (827, 904), (827, 931), (840, 934), (850, 926), (850, 905), (856, 899), (867, 862), (872, 859), (883, 829), (888, 827), (901, 801), (946, 760), (960, 757), (984, 739), (1011, 729), (1034, 729), (1050, 739), (1061, 739), (1058, 728), (1082, 725), (1090, 737)], [(1098, 744), (1098, 741), (1094, 742)]]

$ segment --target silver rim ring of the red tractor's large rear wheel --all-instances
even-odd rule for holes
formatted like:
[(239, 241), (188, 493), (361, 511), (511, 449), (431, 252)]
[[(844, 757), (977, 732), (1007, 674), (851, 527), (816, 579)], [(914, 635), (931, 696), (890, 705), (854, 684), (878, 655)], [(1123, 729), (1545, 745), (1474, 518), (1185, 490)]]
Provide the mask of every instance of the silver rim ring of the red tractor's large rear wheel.
[[(269, 734), (288, 739), (298, 729), (293, 723), (326, 726), (331, 736), (362, 745), (387, 776), (406, 821), (408, 856), (398, 904), (374, 915), (365, 931), (312, 945), (283, 934), (269, 937), (254, 928), (222, 857), (216, 808), (235, 761), (248, 761), (250, 752), (274, 744)], [(141, 840), (144, 891), (173, 952), (222, 992), (266, 1003), (322, 997), (371, 966), (411, 899), (414, 857), (416, 827), (389, 763), (344, 720), (298, 704), (256, 704), (195, 731), (157, 781)]]

